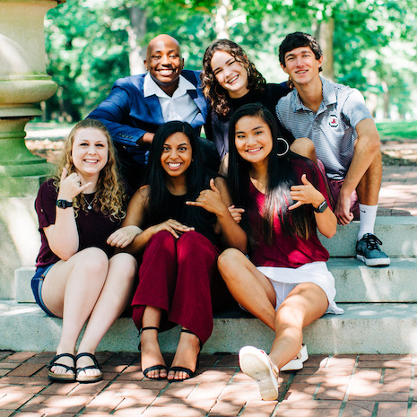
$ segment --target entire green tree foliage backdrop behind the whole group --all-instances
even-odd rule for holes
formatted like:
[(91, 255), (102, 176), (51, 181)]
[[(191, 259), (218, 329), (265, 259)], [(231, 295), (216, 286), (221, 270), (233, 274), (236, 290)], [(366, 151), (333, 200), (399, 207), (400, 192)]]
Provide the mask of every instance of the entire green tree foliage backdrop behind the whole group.
[(283, 37), (301, 30), (320, 39), (333, 20), (326, 56), (334, 56), (335, 80), (374, 94), (386, 115), (393, 104), (410, 111), (417, 81), (413, 0), (67, 0), (46, 20), (48, 72), (59, 85), (49, 115), (85, 117), (118, 77), (130, 74), (131, 7), (145, 13), (143, 45), (168, 33), (180, 42), (187, 68), (200, 69), (205, 48), (226, 30), (272, 82), (285, 79), (276, 57)]

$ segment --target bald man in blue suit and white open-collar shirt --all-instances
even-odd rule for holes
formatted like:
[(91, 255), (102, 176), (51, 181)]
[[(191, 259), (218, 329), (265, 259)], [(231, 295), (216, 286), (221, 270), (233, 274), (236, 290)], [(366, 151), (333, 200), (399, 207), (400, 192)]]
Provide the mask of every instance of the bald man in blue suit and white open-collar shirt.
[[(200, 72), (183, 69), (177, 39), (169, 35), (152, 39), (144, 65), (147, 74), (118, 79), (109, 97), (88, 116), (108, 127), (122, 176), (132, 187), (140, 185), (149, 145), (159, 126), (181, 120), (199, 134), (207, 116)], [(219, 157), (213, 143), (202, 138), (200, 144), (205, 164), (217, 170)]]

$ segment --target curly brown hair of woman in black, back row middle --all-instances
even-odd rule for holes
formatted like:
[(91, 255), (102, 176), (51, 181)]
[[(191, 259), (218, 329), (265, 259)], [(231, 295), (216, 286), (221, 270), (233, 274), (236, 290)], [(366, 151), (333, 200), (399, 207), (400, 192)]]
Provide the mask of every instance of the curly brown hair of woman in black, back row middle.
[(213, 55), (217, 51), (227, 52), (248, 70), (249, 91), (264, 91), (266, 81), (264, 76), (257, 71), (256, 66), (249, 61), (245, 51), (237, 43), (229, 39), (214, 40), (204, 52), (201, 81), (203, 83), (204, 96), (210, 100), (214, 111), (222, 116), (226, 116), (230, 111), (229, 94), (216, 80), (211, 65)]

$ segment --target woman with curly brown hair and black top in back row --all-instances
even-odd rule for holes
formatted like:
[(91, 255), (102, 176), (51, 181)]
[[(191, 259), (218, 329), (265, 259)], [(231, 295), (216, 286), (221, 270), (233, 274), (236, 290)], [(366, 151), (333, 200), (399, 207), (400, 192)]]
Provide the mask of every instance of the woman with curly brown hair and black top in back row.
[[(260, 102), (275, 115), (276, 103), (290, 92), (286, 83), (266, 83), (245, 51), (229, 39), (214, 40), (205, 50), (201, 79), (204, 95), (212, 106), (205, 125), (206, 136), (216, 145), (222, 161), (229, 152), (233, 113), (244, 104)], [(285, 133), (291, 144), (292, 135)]]

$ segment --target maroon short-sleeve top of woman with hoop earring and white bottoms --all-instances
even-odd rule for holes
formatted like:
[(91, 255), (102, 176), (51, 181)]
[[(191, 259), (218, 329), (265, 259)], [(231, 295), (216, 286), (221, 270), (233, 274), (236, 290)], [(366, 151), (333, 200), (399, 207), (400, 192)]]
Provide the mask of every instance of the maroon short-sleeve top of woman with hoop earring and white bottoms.
[[(301, 183), (301, 175), (306, 174), (310, 181), (326, 198), (330, 207), (330, 201), (326, 191), (326, 183), (316, 166), (310, 167), (306, 161), (302, 159), (294, 159), (292, 167), (296, 172), (296, 177), (300, 178), (298, 184)], [(312, 170), (315, 170), (313, 176)], [(315, 179), (315, 180), (314, 180)], [(313, 210), (311, 216), (308, 217), (310, 222), (314, 222), (314, 233), (308, 239), (301, 239), (299, 236), (290, 236), (288, 232), (282, 230), (281, 223), (277, 214), (274, 215), (274, 244), (268, 245), (262, 235), (262, 216), (265, 204), (265, 195), (258, 191), (256, 187), (250, 183), (249, 195), (252, 201), (255, 201), (254, 209), (248, 213), (248, 221), (254, 230), (257, 230), (258, 244), (252, 248), (250, 259), (256, 266), (275, 266), (297, 268), (315, 261), (327, 261), (329, 254), (326, 248), (317, 238), (317, 226)]]

